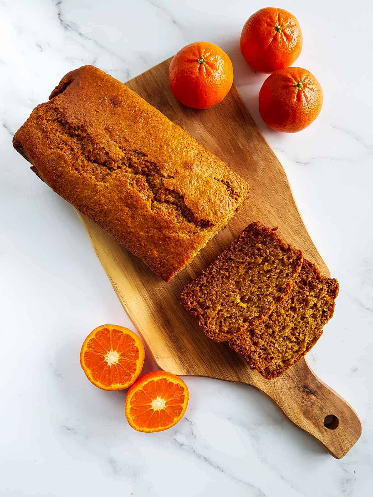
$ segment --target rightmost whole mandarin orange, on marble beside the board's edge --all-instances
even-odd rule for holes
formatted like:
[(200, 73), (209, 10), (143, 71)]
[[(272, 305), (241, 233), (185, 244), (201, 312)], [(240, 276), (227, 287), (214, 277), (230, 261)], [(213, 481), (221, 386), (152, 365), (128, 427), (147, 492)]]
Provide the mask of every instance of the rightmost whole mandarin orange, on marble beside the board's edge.
[(323, 92), (306, 69), (288, 67), (271, 74), (259, 92), (259, 111), (276, 131), (295, 133), (309, 126), (320, 114)]

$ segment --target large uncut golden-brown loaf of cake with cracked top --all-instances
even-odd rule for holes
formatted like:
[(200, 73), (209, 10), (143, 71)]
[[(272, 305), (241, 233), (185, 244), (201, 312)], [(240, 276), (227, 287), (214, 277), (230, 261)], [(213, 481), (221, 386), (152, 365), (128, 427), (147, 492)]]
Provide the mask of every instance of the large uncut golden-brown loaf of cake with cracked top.
[(250, 188), (93, 66), (64, 76), (13, 146), (55, 192), (166, 281), (228, 223)]

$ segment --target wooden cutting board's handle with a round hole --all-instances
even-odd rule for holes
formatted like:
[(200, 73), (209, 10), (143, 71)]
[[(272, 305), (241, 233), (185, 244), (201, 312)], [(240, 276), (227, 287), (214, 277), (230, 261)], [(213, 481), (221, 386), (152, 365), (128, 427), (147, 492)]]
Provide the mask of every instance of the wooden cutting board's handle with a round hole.
[(359, 439), (362, 425), (356, 412), (315, 375), (305, 359), (266, 383), (264, 391), (283, 413), (332, 456), (341, 459)]

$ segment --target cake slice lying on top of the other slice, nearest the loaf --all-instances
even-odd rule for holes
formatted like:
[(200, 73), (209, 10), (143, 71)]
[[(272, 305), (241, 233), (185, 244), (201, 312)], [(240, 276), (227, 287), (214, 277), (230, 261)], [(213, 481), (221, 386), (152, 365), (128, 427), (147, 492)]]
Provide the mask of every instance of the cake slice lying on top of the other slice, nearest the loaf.
[(221, 342), (265, 319), (289, 294), (302, 252), (260, 222), (250, 224), (181, 293), (206, 336)]

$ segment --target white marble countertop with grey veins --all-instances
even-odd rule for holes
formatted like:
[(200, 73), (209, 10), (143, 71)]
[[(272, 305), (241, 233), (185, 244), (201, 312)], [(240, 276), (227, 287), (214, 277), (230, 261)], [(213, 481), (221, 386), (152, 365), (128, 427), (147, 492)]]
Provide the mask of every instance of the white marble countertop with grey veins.
[[(265, 75), (238, 40), (259, 1), (0, 1), (2, 496), (353, 496), (373, 486), (373, 74), (370, 1), (284, 1), (301, 25), (296, 65), (324, 89), (305, 131), (271, 132), (258, 113)], [(220, 45), (280, 158), (341, 291), (308, 360), (356, 409), (363, 435), (338, 461), (256, 390), (186, 378), (187, 414), (132, 430), (124, 392), (94, 388), (79, 364), (103, 323), (132, 328), (73, 208), (15, 153), (11, 138), (68, 71), (94, 64), (126, 81), (196, 40)], [(154, 369), (149, 353), (144, 372)], [(371, 489), (371, 491), (369, 491)]]

